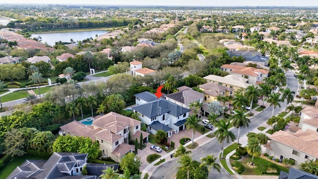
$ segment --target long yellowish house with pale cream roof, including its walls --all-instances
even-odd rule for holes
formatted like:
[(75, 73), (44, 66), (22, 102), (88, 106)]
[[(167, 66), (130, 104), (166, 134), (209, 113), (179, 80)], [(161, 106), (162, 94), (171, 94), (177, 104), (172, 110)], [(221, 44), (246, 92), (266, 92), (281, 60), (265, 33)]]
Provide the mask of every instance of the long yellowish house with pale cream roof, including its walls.
[(225, 77), (220, 77), (216, 75), (209, 75), (206, 77), (203, 77), (208, 83), (213, 82), (225, 87), (230, 87), (231, 89), (234, 89), (234, 91), (243, 88), (246, 89), (247, 87), (251, 86), (251, 84), (248, 84), (248, 79), (235, 76), (235, 75), (227, 75)]

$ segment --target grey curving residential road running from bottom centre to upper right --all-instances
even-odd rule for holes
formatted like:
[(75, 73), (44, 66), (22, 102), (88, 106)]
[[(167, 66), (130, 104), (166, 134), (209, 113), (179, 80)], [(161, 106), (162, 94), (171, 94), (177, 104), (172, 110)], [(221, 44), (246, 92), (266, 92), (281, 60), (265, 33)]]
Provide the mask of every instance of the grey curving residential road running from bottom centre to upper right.
[[(291, 89), (292, 91), (297, 91), (298, 89), (298, 81), (294, 77), (294, 73), (292, 71), (287, 72), (287, 87)], [(286, 102), (281, 102), (280, 104), (281, 104), (281, 108), (276, 108), (274, 110), (274, 114), (278, 114), (279, 112), (285, 109)], [(261, 112), (260, 114), (257, 114), (251, 117), (250, 118), (251, 123), (249, 124), (249, 127), (240, 129), (240, 136), (243, 136), (247, 132), (258, 127), (263, 122), (267, 121), (271, 117), (272, 110), (273, 110), (273, 106), (270, 106), (264, 109), (264, 111)], [(231, 128), (231, 131), (233, 131), (235, 135), (238, 134), (237, 128)], [(221, 150), (221, 144), (218, 142), (216, 138), (214, 138), (210, 142), (206, 143), (205, 145), (193, 150), (192, 159), (200, 161), (200, 158), (205, 157), (207, 155), (214, 155), (215, 157), (217, 157), (220, 150)], [(173, 177), (175, 177), (175, 174), (177, 172), (177, 169), (175, 167), (179, 166), (176, 163), (176, 161), (177, 160), (169, 161), (159, 166), (154, 171), (150, 179), (172, 179)], [(209, 173), (209, 179), (233, 179), (233, 177), (229, 175), (224, 169), (221, 170), (221, 173), (218, 173), (217, 171), (212, 169)]]

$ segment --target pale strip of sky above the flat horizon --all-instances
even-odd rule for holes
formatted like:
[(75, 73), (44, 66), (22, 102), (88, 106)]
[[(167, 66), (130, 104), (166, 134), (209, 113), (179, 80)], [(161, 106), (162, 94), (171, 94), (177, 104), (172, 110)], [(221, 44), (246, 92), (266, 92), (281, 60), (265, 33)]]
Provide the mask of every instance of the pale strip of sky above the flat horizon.
[(318, 6), (318, 0), (0, 0), (0, 3), (178, 6)]

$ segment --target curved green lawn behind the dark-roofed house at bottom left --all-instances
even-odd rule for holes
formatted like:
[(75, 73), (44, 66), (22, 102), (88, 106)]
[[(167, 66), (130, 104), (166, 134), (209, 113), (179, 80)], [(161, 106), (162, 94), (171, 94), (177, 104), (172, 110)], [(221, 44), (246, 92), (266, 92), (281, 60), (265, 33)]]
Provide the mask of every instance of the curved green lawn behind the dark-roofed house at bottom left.
[(40, 156), (33, 156), (33, 155), (24, 155), (23, 157), (15, 158), (10, 163), (5, 165), (5, 167), (0, 171), (0, 179), (7, 178), (11, 172), (17, 167), (20, 166), (26, 159), (31, 160), (47, 160)]

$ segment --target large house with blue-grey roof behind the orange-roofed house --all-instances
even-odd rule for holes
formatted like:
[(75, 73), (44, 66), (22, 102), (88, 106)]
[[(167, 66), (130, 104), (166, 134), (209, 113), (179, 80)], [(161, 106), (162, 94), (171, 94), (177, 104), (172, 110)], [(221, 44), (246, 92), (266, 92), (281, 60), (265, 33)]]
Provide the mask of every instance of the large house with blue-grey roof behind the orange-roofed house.
[(263, 56), (263, 54), (258, 51), (230, 51), (229, 54), (231, 57), (244, 57), (244, 62), (259, 63), (264, 66), (268, 65), (268, 57)]

